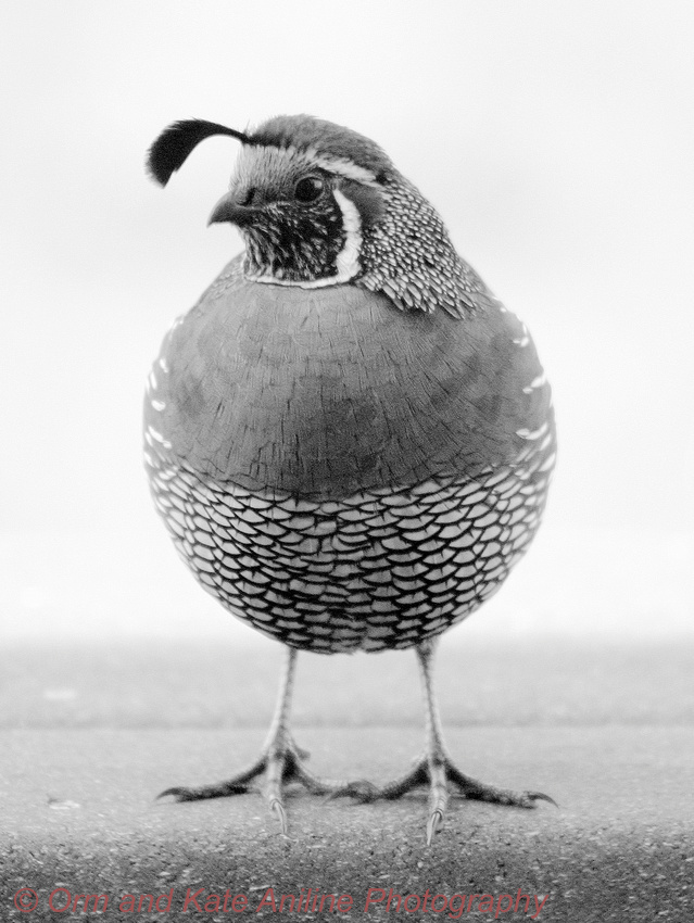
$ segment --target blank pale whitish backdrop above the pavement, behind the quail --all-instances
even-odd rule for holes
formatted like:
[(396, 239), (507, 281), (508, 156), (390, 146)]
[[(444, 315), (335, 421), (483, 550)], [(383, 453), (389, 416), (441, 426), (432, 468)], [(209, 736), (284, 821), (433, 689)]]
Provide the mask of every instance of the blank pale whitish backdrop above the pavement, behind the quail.
[(529, 325), (560, 455), (464, 633), (694, 630), (694, 7), (642, 0), (4, 0), (1, 636), (255, 643), (151, 508), (144, 376), (239, 249), (237, 148), (162, 191), (177, 118), (308, 112), (377, 140)]

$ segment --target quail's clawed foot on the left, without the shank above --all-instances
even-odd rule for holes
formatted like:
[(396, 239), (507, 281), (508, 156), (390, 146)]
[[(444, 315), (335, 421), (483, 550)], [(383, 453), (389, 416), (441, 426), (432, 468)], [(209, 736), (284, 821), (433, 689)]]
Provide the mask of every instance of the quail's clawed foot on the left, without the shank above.
[(226, 798), (230, 795), (243, 795), (247, 792), (256, 791), (253, 783), (260, 776), (264, 776), (264, 796), (269, 811), (279, 821), (281, 832), (287, 833), (287, 811), (282, 797), (283, 788), (291, 782), (304, 786), (313, 795), (331, 795), (335, 791), (343, 788), (344, 782), (323, 780), (310, 772), (304, 760), (310, 754), (296, 746), (288, 736), (286, 739), (273, 741), (267, 745), (260, 758), (243, 771), (237, 773), (225, 782), (212, 785), (201, 785), (195, 788), (175, 786), (167, 788), (157, 795), (164, 798), (172, 795), (177, 801), (199, 801), (206, 798)]

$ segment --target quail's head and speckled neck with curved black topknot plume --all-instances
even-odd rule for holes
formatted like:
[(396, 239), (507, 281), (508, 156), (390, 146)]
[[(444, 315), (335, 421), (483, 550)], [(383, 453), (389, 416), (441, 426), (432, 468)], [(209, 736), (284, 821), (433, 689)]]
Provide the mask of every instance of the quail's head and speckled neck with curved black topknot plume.
[(277, 116), (250, 134), (177, 122), (152, 146), (150, 173), (165, 185), (212, 135), (242, 143), (210, 223), (239, 228), (249, 279), (303, 288), (350, 282), (382, 291), (401, 309), (443, 307), (456, 316), (488, 298), (431, 204), (363, 135), (308, 115)]

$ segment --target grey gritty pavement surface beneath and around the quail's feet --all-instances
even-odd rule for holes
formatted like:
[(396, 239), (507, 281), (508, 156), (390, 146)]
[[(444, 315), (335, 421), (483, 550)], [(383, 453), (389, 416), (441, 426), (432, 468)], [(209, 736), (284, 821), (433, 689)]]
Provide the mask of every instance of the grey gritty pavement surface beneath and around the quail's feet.
[[(273, 645), (0, 656), (0, 920), (694, 920), (691, 644), (444, 648), (437, 677), (454, 759), (559, 807), (455, 799), (431, 848), (425, 792), (361, 806), (298, 791), (287, 837), (257, 795), (154, 800), (254, 758), (278, 662)], [(382, 781), (407, 767), (421, 743), (411, 655), (304, 657), (300, 671), (295, 734), (314, 771)], [(352, 906), (275, 911), (266, 898), (258, 911), (270, 887), (277, 902), (313, 888)], [(20, 888), (36, 892), (35, 910), (15, 907)], [(383, 899), (365, 912), (369, 888)], [(415, 896), (407, 910), (394, 896), (388, 907), (390, 888)], [(452, 902), (415, 910), (427, 892)], [(163, 895), (160, 908), (171, 896), (171, 908), (150, 912), (144, 898), (125, 912), (126, 893)], [(84, 912), (80, 894), (106, 894), (105, 912), (103, 901)], [(234, 895), (245, 910), (232, 911)], [(539, 912), (535, 895), (547, 895)]]

